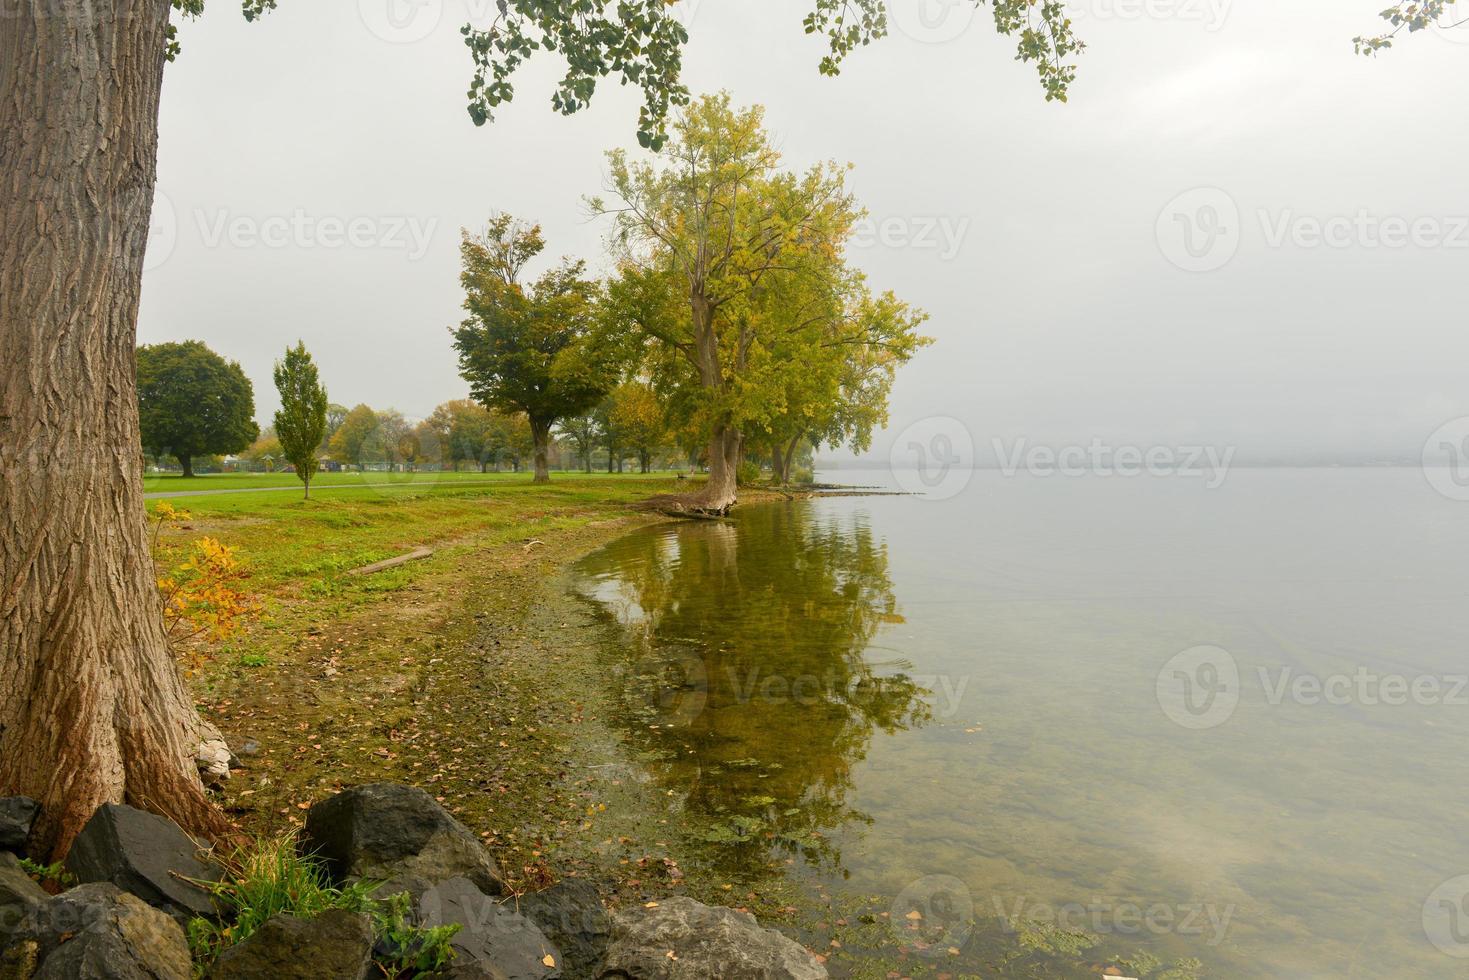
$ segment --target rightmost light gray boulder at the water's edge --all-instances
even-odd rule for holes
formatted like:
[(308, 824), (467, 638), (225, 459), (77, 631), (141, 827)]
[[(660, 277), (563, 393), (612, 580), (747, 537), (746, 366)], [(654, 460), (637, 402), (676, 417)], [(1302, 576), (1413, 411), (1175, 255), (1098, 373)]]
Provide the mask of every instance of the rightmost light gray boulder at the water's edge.
[[(824, 980), (799, 943), (762, 929), (749, 912), (670, 898), (617, 917), (607, 980)], [(670, 955), (671, 954), (671, 955)]]

